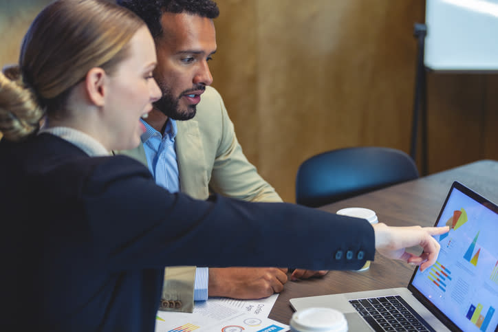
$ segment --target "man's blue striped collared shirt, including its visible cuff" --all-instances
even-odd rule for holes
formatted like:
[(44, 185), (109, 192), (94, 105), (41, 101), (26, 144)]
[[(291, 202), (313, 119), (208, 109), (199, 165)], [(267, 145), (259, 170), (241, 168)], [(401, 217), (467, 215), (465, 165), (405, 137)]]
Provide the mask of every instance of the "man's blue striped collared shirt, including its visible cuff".
[[(147, 164), (155, 183), (169, 192), (180, 191), (180, 173), (176, 159), (175, 137), (177, 133), (176, 121), (168, 119), (164, 135), (152, 128), (144, 120), (140, 120), (145, 126), (142, 134)], [(208, 299), (208, 268), (198, 267), (195, 269), (194, 300), (205, 301)]]

